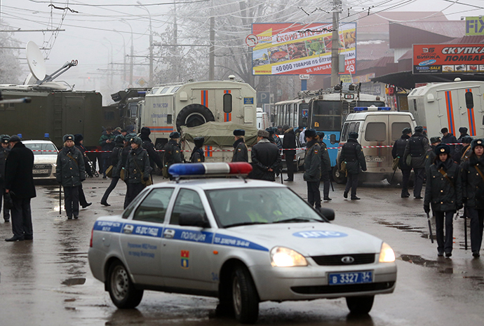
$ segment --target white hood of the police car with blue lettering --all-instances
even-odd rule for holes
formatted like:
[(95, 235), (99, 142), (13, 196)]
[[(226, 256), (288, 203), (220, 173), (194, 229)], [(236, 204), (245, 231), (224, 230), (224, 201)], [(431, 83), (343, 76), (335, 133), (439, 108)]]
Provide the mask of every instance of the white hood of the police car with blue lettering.
[(330, 223), (257, 224), (229, 228), (232, 234), (271, 250), (281, 246), (303, 256), (379, 253), (382, 240), (355, 229)]

